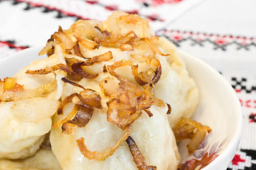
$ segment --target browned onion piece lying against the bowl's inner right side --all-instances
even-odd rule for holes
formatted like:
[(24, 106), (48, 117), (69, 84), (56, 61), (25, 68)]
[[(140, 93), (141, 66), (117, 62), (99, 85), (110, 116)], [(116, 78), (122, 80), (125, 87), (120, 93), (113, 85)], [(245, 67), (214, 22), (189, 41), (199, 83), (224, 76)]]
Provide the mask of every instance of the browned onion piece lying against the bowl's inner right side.
[(190, 154), (201, 145), (206, 134), (211, 132), (207, 125), (202, 125), (188, 118), (182, 118), (173, 130), (176, 140), (191, 139), (187, 146)]

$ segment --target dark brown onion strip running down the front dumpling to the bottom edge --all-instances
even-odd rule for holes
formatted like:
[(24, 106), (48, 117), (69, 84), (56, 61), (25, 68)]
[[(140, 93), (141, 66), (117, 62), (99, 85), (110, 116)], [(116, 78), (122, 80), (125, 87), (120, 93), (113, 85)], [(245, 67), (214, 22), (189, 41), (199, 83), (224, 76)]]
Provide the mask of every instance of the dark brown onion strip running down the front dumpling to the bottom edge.
[(129, 136), (126, 140), (129, 150), (132, 153), (135, 164), (139, 170), (156, 170), (156, 166), (147, 166), (142, 153), (139, 151), (135, 141)]

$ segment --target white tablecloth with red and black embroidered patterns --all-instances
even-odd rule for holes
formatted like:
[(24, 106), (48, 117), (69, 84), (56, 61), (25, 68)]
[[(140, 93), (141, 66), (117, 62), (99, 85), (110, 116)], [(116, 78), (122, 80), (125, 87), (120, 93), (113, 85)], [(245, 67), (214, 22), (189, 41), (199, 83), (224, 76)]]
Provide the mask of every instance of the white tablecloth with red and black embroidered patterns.
[(0, 0), (0, 59), (78, 19), (104, 21), (114, 10), (147, 18), (156, 35), (210, 64), (233, 86), (244, 129), (229, 170), (256, 169), (256, 1)]

